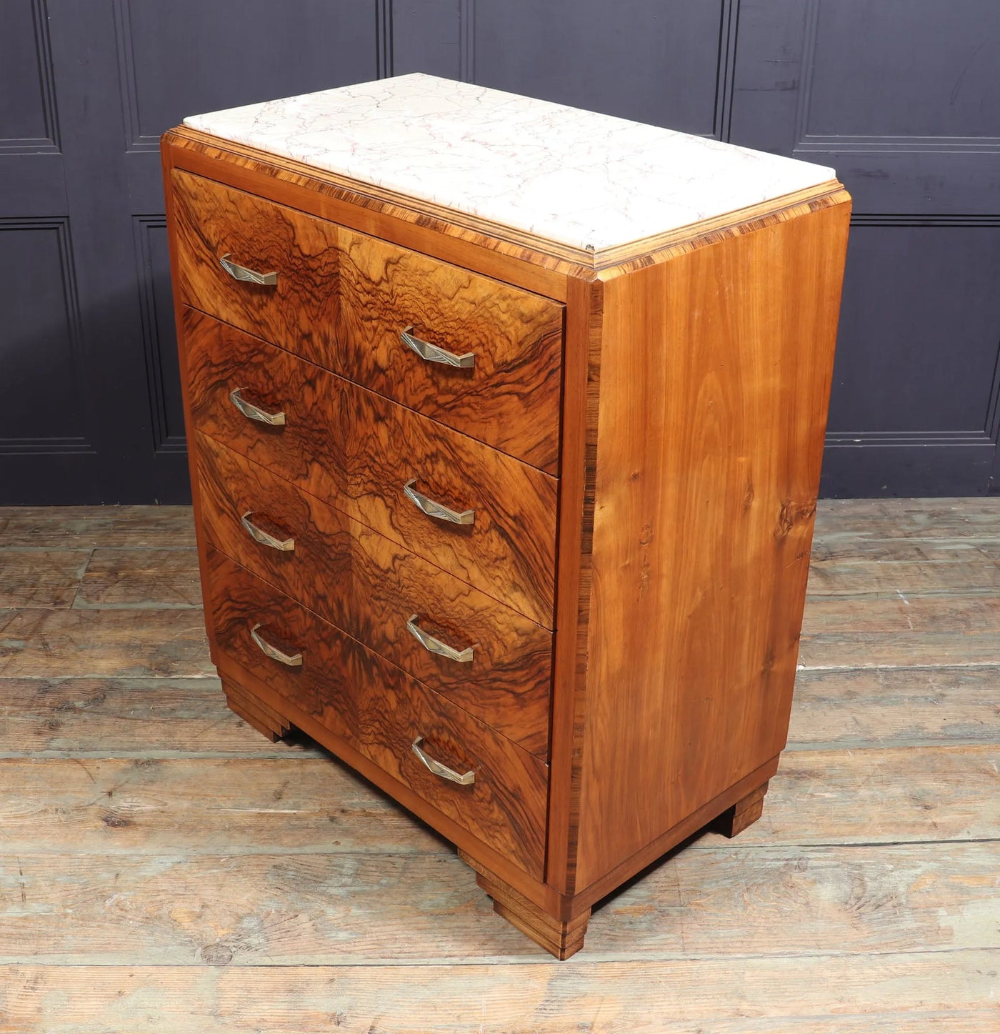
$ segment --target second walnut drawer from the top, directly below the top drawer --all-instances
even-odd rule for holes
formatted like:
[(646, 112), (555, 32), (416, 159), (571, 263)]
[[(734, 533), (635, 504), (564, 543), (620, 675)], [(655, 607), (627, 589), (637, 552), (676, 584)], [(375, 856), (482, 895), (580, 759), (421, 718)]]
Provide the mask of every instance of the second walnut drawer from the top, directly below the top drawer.
[[(195, 428), (552, 628), (555, 478), (194, 309), (183, 320)], [(283, 423), (246, 416), (237, 390)]]

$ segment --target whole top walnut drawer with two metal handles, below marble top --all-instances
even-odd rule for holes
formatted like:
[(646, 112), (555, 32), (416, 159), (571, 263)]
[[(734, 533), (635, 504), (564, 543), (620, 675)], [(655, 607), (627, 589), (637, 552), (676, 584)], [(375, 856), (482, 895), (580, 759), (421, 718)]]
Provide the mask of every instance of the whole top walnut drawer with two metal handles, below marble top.
[(199, 176), (171, 175), (185, 302), (557, 472), (561, 304)]

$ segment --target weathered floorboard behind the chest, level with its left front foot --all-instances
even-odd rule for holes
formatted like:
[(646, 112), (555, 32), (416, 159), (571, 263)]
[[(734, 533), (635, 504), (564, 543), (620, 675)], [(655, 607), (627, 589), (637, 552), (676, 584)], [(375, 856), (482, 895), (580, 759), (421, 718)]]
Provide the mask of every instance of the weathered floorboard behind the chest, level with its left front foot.
[[(996, 742), (994, 668), (800, 671), (788, 749)], [(211, 678), (0, 679), (0, 757), (284, 756), (225, 706)]]

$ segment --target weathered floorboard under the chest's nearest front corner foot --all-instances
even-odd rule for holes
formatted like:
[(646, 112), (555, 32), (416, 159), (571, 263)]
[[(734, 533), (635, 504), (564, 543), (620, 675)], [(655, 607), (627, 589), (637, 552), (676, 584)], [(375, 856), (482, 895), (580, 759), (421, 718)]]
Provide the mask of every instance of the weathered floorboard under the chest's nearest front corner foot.
[[(585, 952), (739, 971), (836, 945), (877, 969), (872, 954), (995, 949), (998, 888), (995, 844), (682, 851), (594, 911)], [(176, 966), (223, 947), (235, 967), (548, 961), (455, 855), (0, 857), (0, 965)]]

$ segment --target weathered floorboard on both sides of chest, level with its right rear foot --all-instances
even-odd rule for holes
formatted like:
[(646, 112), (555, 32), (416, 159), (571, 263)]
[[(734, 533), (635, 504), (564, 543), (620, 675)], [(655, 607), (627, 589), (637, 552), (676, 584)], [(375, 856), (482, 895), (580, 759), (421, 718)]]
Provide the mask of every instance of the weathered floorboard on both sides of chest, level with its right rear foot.
[[(731, 846), (1000, 840), (998, 767), (994, 746), (788, 752), (763, 817)], [(325, 756), (8, 758), (0, 791), (12, 852), (450, 850)]]

